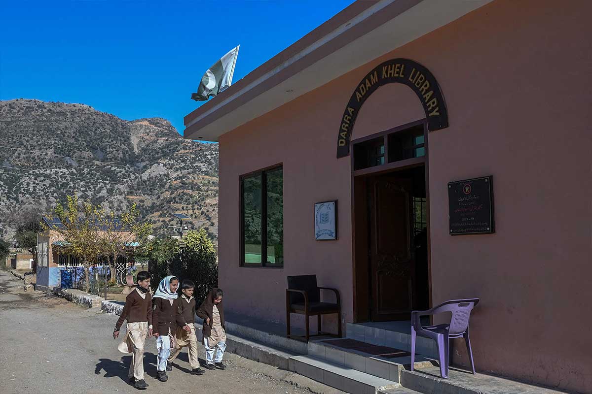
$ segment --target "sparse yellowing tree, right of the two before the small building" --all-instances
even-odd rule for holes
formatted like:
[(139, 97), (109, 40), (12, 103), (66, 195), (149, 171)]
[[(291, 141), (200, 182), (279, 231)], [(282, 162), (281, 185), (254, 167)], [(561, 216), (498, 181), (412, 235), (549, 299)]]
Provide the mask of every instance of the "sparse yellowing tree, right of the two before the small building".
[(115, 280), (115, 264), (119, 256), (129, 256), (134, 242), (143, 243), (150, 235), (152, 227), (150, 223), (140, 222), (140, 212), (133, 204), (130, 210), (120, 216), (115, 213), (99, 211), (101, 223), (102, 248), (113, 256), (109, 262), (111, 268), (111, 280)]

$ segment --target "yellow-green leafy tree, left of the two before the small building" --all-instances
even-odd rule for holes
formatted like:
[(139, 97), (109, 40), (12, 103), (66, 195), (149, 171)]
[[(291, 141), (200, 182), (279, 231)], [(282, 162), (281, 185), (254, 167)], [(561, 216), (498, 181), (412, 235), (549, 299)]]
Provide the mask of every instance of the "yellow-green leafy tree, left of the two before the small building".
[(85, 291), (89, 289), (89, 268), (94, 265), (99, 255), (104, 254), (100, 239), (101, 207), (89, 201), (79, 204), (78, 197), (67, 196), (66, 206), (57, 204), (54, 213), (62, 222), (61, 226), (53, 224), (46, 230), (57, 233), (63, 241), (63, 253), (78, 257), (84, 269)]

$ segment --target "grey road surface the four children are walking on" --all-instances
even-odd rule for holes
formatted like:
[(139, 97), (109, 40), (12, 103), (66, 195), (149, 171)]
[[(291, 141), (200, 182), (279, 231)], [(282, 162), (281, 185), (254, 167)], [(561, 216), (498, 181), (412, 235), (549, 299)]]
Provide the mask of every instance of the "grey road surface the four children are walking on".
[[(135, 393), (127, 383), (130, 355), (117, 350), (111, 337), (117, 321), (54, 295), (22, 291), (22, 280), (0, 271), (0, 392)], [(186, 350), (169, 372), (156, 376), (156, 341), (146, 342), (145, 393), (337, 393), (303, 376), (227, 354), (226, 371), (188, 374)], [(202, 358), (204, 355), (202, 354)], [(271, 376), (271, 377), (270, 377)], [(278, 377), (278, 379), (272, 379)]]

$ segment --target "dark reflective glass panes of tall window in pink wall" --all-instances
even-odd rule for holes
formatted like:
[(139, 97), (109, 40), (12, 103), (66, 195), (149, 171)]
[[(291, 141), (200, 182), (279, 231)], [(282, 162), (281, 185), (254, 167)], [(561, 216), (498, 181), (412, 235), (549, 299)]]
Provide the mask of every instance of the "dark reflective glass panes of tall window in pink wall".
[(284, 265), (282, 167), (242, 178), (242, 246), (243, 266)]

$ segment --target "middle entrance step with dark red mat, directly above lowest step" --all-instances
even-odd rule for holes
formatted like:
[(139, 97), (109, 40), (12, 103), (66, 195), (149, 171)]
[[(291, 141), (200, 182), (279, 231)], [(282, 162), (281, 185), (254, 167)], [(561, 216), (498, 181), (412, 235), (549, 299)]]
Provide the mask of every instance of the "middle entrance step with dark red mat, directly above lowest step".
[[(397, 353), (401, 351), (355, 340), (308, 342), (308, 356), (393, 382), (400, 382), (401, 371), (411, 365), (411, 356), (396, 357)], [(416, 368), (432, 366), (432, 360), (418, 354), (414, 365)]]

